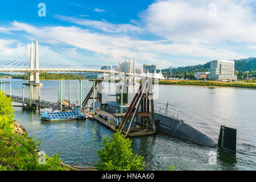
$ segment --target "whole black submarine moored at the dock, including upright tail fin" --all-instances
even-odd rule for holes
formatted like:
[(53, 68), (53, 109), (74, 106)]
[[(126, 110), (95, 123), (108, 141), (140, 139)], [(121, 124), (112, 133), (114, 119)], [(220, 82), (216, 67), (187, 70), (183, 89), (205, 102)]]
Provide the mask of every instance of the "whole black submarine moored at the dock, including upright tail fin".
[[(118, 86), (119, 87), (119, 86)], [(141, 87), (140, 87), (141, 88)], [(92, 89), (90, 90), (92, 92)], [(117, 92), (118, 93), (118, 92)], [(120, 92), (119, 92), (120, 93)], [(90, 94), (85, 99), (84, 105), (90, 98)], [(118, 97), (118, 94), (115, 95)], [(119, 94), (120, 96), (120, 94)], [(126, 104), (127, 104), (127, 92), (126, 92)], [(133, 102), (133, 101), (132, 101)], [(114, 101), (108, 101), (104, 104), (101, 103), (101, 109), (107, 111), (108, 113), (117, 114), (121, 113), (121, 102), (118, 102), (118, 99)], [(128, 107), (122, 107), (123, 113), (126, 113)], [(135, 107), (136, 108), (136, 107)], [(134, 108), (134, 110), (135, 110)], [(133, 110), (133, 111), (134, 111)], [(141, 110), (138, 108), (138, 110)], [(149, 116), (148, 129), (152, 129), (152, 116)], [(170, 117), (168, 115), (163, 115), (154, 112), (154, 121), (155, 129), (157, 133), (163, 133), (171, 137), (179, 138), (181, 140), (187, 140), (189, 142), (209, 146), (209, 147), (220, 147), (223, 150), (230, 151), (236, 154), (236, 139), (237, 139), (237, 130), (230, 127), (221, 126), (220, 134), (218, 137), (218, 142), (215, 142), (213, 139), (209, 138), (207, 135), (201, 133), (199, 130), (189, 126), (181, 119)], [(134, 126), (141, 124), (141, 117), (136, 116)]]

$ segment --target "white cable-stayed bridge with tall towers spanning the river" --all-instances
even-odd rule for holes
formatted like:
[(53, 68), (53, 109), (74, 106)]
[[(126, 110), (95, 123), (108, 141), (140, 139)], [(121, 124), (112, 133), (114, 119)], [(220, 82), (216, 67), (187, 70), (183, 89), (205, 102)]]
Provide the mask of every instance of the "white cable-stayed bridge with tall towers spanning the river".
[[(133, 63), (131, 63), (133, 61)], [(135, 60), (122, 63), (105, 69), (91, 69), (60, 55), (36, 41), (22, 46), (0, 52), (0, 72), (27, 72), (29, 81), (39, 83), (39, 73), (42, 72), (87, 72), (94, 75), (98, 73), (121, 74), (131, 77), (163, 78), (162, 73), (148, 73), (143, 69), (135, 69)]]

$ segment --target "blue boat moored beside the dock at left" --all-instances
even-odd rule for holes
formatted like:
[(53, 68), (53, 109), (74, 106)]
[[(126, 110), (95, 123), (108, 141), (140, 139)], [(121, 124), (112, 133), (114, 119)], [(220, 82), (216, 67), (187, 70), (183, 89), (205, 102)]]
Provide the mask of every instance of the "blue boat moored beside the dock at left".
[(68, 112), (56, 112), (56, 113), (41, 113), (40, 117), (46, 121), (59, 121), (59, 120), (69, 120), (69, 119), (86, 119), (86, 115), (78, 110), (68, 111)]

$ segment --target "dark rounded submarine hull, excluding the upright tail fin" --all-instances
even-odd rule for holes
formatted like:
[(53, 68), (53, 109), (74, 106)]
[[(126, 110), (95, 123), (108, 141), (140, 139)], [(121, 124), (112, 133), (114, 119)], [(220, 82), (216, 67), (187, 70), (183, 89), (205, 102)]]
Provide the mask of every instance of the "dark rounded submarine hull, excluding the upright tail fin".
[[(117, 102), (108, 102), (104, 105), (104, 109), (110, 113), (117, 113), (117, 111), (120, 111), (120, 105)], [(124, 107), (123, 110), (127, 110), (127, 108)], [(209, 147), (217, 147), (217, 143), (214, 142), (214, 140), (179, 119), (155, 113), (155, 120), (159, 120), (159, 122), (156, 122), (156, 131), (160, 133), (188, 140), (192, 143), (203, 144)], [(136, 118), (136, 122), (137, 124), (141, 123), (140, 117)], [(152, 129), (152, 122), (150, 122), (148, 127)]]

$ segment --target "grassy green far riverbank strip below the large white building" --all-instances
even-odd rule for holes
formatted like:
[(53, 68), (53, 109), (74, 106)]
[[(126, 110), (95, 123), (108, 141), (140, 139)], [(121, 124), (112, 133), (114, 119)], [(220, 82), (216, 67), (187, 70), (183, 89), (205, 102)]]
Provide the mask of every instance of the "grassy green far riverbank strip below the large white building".
[(160, 80), (162, 85), (195, 85), (195, 86), (231, 86), (239, 88), (256, 88), (256, 83), (220, 82), (220, 81), (195, 81), (195, 80)]

